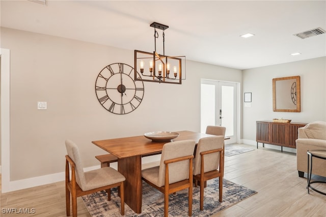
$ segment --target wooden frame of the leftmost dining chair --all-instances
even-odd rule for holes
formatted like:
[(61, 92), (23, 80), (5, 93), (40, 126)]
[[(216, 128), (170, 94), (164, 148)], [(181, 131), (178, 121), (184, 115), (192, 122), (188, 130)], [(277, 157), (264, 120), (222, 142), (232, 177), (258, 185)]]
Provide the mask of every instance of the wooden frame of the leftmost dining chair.
[[(71, 167), (71, 179), (69, 172), (69, 165)], [(76, 182), (76, 172), (75, 172), (75, 163), (74, 161), (66, 155), (66, 212), (67, 216), (70, 216), (70, 194), (72, 200), (72, 216), (77, 216), (77, 197), (89, 195), (95, 192), (103, 191), (110, 189), (112, 187), (120, 188), (120, 199), (121, 199), (121, 215), (124, 215), (124, 181), (117, 182), (111, 185), (106, 185), (102, 187), (97, 187), (94, 189), (90, 189), (88, 191), (83, 191), (82, 188)], [(107, 194), (107, 200), (111, 200), (110, 194)]]

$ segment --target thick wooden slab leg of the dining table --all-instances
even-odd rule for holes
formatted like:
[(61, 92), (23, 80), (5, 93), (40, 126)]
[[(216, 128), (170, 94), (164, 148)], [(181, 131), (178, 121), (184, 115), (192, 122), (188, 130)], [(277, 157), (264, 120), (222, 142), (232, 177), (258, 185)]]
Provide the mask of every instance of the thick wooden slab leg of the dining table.
[(135, 212), (142, 212), (142, 156), (118, 158), (118, 171), (126, 178), (124, 201)]

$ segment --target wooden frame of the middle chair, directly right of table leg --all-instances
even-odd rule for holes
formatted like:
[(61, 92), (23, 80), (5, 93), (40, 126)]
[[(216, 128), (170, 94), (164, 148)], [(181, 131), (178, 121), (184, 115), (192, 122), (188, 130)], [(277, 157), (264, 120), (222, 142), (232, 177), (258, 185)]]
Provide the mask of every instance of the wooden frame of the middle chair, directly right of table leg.
[[(154, 188), (158, 189), (161, 193), (164, 194), (164, 216), (167, 217), (169, 213), (169, 194), (181, 191), (182, 189), (188, 188), (188, 215), (192, 216), (193, 210), (193, 158), (194, 155), (188, 155), (183, 157), (177, 157), (169, 160), (165, 160), (164, 164), (166, 165), (165, 168), (165, 185), (158, 187), (155, 184), (151, 183), (144, 177), (142, 179), (153, 186)], [(182, 161), (182, 160), (189, 160), (189, 179), (178, 181), (175, 183), (169, 184), (169, 164), (173, 164), (174, 162)]]

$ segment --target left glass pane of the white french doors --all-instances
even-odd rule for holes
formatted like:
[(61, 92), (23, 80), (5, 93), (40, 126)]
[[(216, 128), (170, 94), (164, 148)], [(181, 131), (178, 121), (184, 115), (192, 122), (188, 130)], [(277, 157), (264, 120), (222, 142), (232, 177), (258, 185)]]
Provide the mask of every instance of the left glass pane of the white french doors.
[(201, 132), (215, 125), (215, 85), (201, 85)]

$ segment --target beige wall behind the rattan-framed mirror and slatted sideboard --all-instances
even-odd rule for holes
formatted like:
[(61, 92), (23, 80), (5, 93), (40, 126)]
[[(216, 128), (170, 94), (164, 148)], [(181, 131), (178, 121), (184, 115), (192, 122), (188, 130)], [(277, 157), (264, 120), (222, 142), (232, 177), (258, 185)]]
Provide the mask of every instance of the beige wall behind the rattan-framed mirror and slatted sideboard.
[[(299, 75), (301, 112), (273, 112), (272, 79)], [(242, 139), (256, 141), (256, 121), (273, 118), (309, 123), (326, 121), (326, 57), (243, 70), (243, 93), (252, 92), (251, 107), (242, 107)]]

